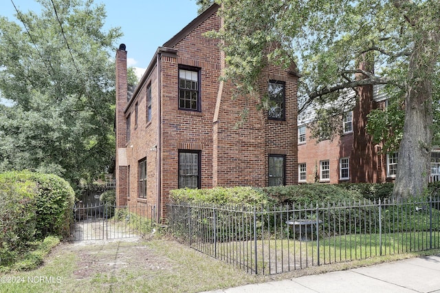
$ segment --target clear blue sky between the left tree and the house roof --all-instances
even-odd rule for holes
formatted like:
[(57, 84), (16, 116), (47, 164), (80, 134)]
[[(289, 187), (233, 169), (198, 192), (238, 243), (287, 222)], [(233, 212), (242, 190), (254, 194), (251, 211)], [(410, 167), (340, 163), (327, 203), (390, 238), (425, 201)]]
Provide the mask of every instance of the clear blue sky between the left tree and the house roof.
[[(0, 15), (15, 20), (12, 1), (23, 12), (39, 11), (34, 0), (2, 0)], [(104, 29), (120, 27), (124, 36), (118, 40), (126, 45), (129, 66), (145, 68), (157, 47), (197, 17), (195, 0), (95, 0), (104, 3), (107, 19)], [(18, 21), (18, 20), (15, 20)]]

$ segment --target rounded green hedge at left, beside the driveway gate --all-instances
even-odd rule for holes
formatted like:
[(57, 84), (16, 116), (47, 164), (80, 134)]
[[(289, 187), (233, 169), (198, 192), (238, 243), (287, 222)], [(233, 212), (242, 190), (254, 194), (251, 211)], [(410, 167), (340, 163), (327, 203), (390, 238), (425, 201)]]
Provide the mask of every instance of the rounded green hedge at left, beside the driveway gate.
[(14, 259), (47, 235), (69, 237), (75, 195), (61, 177), (29, 171), (0, 174), (0, 259)]

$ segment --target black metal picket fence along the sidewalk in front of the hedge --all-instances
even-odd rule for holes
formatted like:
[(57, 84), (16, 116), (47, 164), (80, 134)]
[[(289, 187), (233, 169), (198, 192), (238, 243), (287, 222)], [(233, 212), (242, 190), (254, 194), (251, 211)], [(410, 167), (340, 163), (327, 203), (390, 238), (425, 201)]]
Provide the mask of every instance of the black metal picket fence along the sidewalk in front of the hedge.
[(168, 205), (181, 243), (254, 274), (440, 248), (439, 198), (325, 206)]

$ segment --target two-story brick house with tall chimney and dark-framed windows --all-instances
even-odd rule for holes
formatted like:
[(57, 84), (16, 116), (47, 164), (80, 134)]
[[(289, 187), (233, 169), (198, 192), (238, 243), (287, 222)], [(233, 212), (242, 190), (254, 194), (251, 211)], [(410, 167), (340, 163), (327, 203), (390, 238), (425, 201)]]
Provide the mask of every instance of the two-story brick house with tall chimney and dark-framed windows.
[[(267, 67), (261, 96), (232, 99), (219, 80), (225, 66), (214, 4), (158, 47), (133, 95), (127, 94), (126, 47), (116, 52), (116, 197), (118, 205), (166, 215), (169, 191), (214, 186), (296, 184), (297, 81), (293, 70)], [(241, 127), (241, 110), (248, 116)]]

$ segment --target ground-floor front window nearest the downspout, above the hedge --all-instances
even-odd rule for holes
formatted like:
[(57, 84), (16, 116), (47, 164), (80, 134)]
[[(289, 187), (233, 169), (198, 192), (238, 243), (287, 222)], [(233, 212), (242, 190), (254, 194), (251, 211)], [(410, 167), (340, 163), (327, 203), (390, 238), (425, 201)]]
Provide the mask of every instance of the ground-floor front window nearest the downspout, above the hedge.
[(200, 151), (179, 151), (179, 188), (200, 188)]

